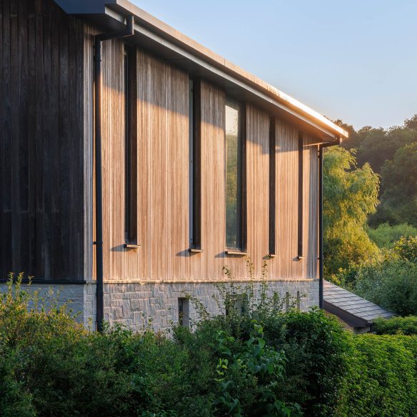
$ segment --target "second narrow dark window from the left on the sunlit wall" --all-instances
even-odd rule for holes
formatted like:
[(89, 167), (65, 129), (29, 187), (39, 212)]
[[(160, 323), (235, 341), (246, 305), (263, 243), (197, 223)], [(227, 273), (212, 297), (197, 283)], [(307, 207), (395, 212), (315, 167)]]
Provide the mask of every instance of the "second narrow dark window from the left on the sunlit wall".
[(189, 80), (190, 249), (201, 249), (201, 84)]

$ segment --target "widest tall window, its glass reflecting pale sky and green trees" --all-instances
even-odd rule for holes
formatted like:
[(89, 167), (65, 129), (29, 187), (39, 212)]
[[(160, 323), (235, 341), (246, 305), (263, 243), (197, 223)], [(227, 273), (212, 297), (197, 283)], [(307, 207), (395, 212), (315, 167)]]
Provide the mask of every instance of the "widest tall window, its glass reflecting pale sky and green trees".
[(241, 104), (226, 100), (226, 248), (246, 250), (245, 146), (246, 114)]

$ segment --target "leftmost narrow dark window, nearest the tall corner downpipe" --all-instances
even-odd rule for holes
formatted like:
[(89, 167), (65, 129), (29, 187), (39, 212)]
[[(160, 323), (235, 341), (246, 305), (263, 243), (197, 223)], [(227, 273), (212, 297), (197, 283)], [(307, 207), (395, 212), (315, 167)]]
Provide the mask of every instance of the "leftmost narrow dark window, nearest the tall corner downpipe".
[(137, 128), (136, 49), (124, 48), (124, 235), (127, 244), (137, 244)]

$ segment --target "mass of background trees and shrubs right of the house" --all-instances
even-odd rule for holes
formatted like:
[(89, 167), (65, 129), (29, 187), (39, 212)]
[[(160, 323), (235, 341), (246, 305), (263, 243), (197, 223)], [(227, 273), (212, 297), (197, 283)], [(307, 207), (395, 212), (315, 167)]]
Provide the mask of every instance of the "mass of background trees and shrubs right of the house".
[(417, 115), (391, 129), (341, 126), (326, 151), (326, 278), (406, 316), (417, 314)]

